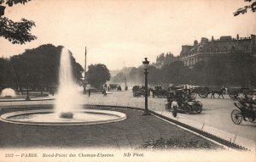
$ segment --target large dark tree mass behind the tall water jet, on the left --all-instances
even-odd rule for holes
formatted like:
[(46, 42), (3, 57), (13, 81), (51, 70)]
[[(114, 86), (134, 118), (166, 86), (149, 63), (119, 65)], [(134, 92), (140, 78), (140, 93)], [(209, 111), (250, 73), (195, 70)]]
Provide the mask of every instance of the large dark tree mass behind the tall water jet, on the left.
[[(46, 44), (11, 57), (9, 61), (5, 61), (8, 66), (0, 64), (0, 75), (5, 78), (0, 84), (14, 87), (16, 78), (20, 87), (26, 87), (26, 82), (32, 89), (57, 85), (61, 49), (61, 46)], [(75, 81), (81, 82), (84, 69), (73, 57), (71, 61), (73, 77)]]

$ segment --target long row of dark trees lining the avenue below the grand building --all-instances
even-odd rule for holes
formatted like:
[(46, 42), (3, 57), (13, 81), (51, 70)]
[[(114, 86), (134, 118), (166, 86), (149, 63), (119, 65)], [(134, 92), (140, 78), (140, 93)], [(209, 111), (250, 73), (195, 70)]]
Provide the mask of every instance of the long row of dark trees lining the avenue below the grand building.
[[(158, 57), (159, 58), (159, 57)], [(184, 66), (180, 61), (165, 64), (160, 69), (150, 64), (148, 66), (148, 84), (191, 84), (207, 87), (256, 87), (256, 58), (251, 53), (233, 51), (214, 56), (207, 62), (197, 62), (193, 68)], [(143, 84), (143, 67), (131, 68), (127, 81)], [(124, 81), (124, 75), (114, 76), (118, 81)]]

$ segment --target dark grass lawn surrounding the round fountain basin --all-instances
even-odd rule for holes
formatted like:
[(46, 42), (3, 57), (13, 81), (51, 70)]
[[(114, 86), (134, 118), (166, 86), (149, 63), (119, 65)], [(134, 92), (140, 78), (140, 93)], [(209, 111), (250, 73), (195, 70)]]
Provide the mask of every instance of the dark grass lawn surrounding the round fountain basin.
[[(98, 109), (125, 113), (127, 119), (94, 126), (26, 126), (0, 121), (0, 148), (148, 148), (143, 144), (158, 139), (193, 142), (198, 148), (221, 148), (154, 115), (142, 116), (141, 111), (132, 109)], [(18, 110), (23, 109), (2, 109), (1, 115)]]

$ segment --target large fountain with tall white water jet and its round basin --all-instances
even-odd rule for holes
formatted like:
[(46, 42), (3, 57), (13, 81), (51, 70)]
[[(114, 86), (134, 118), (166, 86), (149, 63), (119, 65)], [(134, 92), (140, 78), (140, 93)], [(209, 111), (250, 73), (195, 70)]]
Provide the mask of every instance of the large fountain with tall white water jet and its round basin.
[(126, 115), (117, 111), (83, 109), (83, 100), (73, 81), (71, 53), (62, 48), (59, 70), (59, 87), (54, 109), (16, 111), (1, 115), (5, 122), (40, 126), (81, 126), (125, 120)]

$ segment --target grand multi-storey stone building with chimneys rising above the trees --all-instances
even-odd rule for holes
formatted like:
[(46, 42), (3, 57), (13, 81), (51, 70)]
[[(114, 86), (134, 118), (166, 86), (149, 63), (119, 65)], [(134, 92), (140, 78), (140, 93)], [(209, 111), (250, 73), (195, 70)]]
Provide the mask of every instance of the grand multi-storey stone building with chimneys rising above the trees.
[(185, 66), (193, 67), (199, 61), (208, 61), (212, 56), (227, 54), (234, 51), (243, 51), (255, 55), (256, 36), (232, 38), (231, 36), (221, 36), (219, 39), (209, 41), (202, 37), (201, 42), (194, 41), (194, 45), (182, 46), (179, 60)]

